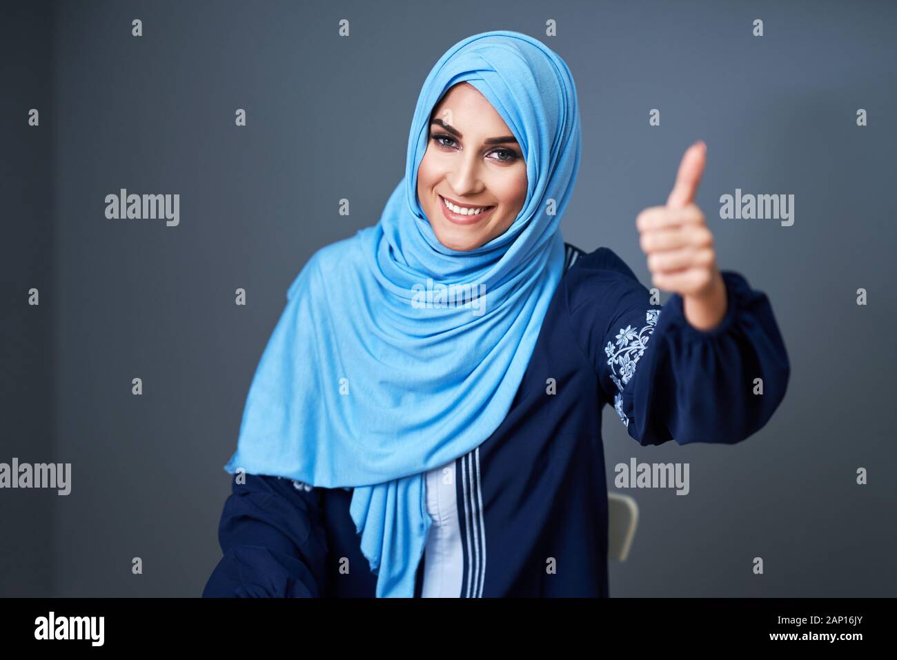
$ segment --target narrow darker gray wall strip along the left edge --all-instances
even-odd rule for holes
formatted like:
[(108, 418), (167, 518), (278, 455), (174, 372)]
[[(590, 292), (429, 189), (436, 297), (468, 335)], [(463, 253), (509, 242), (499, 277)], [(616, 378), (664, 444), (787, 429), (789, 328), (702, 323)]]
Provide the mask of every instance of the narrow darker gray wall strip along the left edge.
[[(52, 15), (46, 2), (0, 10), (0, 463), (54, 455)], [(40, 126), (27, 126), (41, 110)], [(39, 291), (39, 306), (28, 291)], [(49, 595), (53, 508), (48, 491), (0, 490), (0, 596)]]

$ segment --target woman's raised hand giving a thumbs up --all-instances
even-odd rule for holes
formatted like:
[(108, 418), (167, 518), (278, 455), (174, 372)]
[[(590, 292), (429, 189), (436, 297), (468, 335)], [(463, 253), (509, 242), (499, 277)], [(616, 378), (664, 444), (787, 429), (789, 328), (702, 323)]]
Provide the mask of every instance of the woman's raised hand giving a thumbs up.
[(718, 326), (727, 308), (726, 282), (717, 267), (713, 234), (694, 204), (706, 160), (707, 145), (692, 144), (679, 165), (666, 206), (647, 208), (635, 221), (641, 249), (648, 255), (651, 283), (680, 294), (686, 320), (699, 330)]

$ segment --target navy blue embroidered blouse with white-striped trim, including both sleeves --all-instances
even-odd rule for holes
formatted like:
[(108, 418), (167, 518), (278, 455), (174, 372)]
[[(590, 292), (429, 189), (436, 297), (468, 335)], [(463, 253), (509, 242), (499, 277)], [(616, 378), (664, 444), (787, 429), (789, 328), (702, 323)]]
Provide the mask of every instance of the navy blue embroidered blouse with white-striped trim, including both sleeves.
[[(609, 248), (567, 254), (507, 417), (455, 462), (462, 596), (608, 595), (605, 404), (641, 445), (733, 444), (761, 429), (785, 395), (779, 327), (742, 275), (722, 271), (726, 316), (702, 331), (678, 294), (651, 304)], [(351, 499), (351, 489), (235, 479), (219, 526), (223, 557), (203, 595), (373, 597)]]

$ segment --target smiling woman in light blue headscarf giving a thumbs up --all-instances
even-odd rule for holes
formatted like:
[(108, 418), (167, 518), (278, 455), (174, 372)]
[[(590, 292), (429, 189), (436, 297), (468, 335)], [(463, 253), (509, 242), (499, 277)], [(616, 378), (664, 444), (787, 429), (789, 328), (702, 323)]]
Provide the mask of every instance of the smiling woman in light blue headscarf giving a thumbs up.
[(638, 219), (663, 308), (609, 249), (565, 247), (579, 153), (544, 44), (498, 30), (440, 58), (379, 223), (287, 292), (204, 595), (607, 595), (603, 405), (643, 445), (770, 418), (788, 358), (766, 297), (715, 265), (702, 145)]

